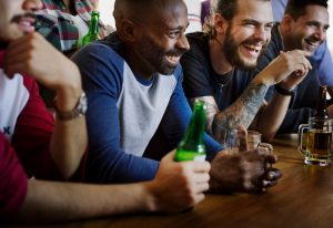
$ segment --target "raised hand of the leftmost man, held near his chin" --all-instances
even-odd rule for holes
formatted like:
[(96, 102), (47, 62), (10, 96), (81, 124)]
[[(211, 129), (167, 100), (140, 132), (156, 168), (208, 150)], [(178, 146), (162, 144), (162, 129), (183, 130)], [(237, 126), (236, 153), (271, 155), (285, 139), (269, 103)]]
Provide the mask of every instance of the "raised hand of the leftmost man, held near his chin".
[(57, 106), (63, 112), (72, 110), (82, 93), (77, 65), (37, 32), (9, 43), (3, 69), (9, 76), (16, 73), (28, 74), (54, 90)]

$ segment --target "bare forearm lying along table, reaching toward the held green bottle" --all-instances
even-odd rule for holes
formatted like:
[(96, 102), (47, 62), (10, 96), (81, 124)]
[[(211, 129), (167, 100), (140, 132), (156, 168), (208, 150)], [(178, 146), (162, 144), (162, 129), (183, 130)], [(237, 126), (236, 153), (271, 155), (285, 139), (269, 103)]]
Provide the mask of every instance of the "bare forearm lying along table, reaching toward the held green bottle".
[(54, 222), (148, 211), (153, 205), (147, 183), (85, 185), (30, 180), (24, 203), (12, 216), (20, 222)]

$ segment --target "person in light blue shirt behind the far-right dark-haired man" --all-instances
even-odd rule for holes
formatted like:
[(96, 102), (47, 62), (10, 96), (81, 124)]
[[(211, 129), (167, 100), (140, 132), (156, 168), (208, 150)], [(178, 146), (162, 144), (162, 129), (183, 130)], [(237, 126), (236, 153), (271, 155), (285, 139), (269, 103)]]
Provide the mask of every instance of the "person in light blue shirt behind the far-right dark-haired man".
[[(274, 20), (276, 22), (281, 22), (284, 15), (284, 10), (287, 4), (287, 0), (271, 0), (271, 3), (273, 8)], [(331, 96), (333, 96), (333, 62), (326, 40), (324, 40), (324, 42), (315, 50), (312, 58), (315, 60), (316, 63), (320, 83), (322, 85), (327, 85), (327, 90)]]

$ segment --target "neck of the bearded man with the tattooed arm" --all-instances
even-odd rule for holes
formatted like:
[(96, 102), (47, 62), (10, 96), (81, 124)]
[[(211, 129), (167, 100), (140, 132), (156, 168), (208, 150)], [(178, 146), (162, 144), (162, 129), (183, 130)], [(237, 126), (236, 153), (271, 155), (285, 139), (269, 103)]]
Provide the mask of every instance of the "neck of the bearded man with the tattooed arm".
[(222, 52), (223, 45), (216, 39), (210, 39), (210, 58), (211, 64), (214, 71), (220, 74), (226, 74), (228, 72), (233, 70), (233, 66), (226, 60), (224, 53)]

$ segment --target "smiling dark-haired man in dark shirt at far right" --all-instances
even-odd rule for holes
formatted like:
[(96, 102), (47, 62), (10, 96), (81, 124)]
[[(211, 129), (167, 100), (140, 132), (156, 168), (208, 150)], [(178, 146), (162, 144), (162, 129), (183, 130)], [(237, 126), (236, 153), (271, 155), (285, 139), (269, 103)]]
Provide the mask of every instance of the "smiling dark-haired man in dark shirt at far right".
[[(327, 0), (290, 0), (281, 23), (272, 30), (272, 41), (265, 54), (260, 59), (256, 71), (262, 71), (281, 52), (291, 50), (303, 50), (309, 56), (313, 56), (326, 40), (329, 28)], [(312, 62), (315, 62), (310, 58)], [(266, 99), (270, 100), (273, 93), (282, 92), (292, 99), (284, 121), (279, 133), (295, 133), (299, 125), (307, 123), (313, 115), (319, 97), (320, 79), (319, 69), (314, 65), (306, 77), (294, 90), (282, 90), (271, 87)], [(333, 105), (329, 106), (329, 113), (333, 116)]]

